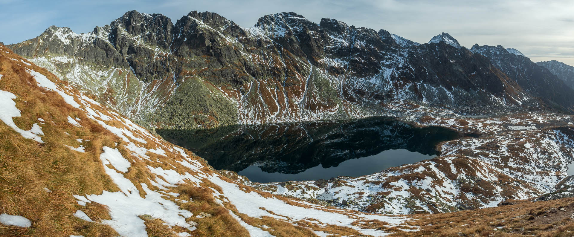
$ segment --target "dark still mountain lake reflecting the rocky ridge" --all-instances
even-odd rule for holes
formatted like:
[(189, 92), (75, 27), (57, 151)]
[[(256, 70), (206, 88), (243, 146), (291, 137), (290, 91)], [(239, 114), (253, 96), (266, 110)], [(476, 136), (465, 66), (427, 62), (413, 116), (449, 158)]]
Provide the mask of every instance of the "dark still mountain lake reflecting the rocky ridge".
[(428, 160), (437, 155), (437, 143), (461, 136), (444, 127), (415, 127), (385, 117), (157, 133), (214, 168), (254, 182), (363, 176)]

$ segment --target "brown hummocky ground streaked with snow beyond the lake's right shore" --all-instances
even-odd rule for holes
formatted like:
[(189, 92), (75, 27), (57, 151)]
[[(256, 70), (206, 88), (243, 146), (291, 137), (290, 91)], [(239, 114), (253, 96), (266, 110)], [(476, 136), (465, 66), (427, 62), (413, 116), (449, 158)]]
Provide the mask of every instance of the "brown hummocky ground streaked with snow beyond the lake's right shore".
[(439, 157), (368, 176), (251, 185), (307, 199), (328, 196), (333, 205), (362, 211), (448, 212), (554, 192), (574, 161), (574, 127), (567, 115), (425, 117), (416, 123), (482, 136), (441, 143)]

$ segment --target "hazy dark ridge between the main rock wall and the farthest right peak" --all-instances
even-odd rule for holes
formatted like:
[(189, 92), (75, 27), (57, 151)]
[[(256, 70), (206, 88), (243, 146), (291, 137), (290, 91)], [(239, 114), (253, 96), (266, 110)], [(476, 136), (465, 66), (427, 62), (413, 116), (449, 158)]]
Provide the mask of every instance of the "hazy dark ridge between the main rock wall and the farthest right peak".
[(472, 52), (480, 53), (490, 59), (498, 69), (516, 81), (526, 92), (537, 96), (549, 107), (559, 111), (574, 110), (574, 90), (564, 81), (554, 76), (548, 69), (538, 66), (528, 57), (509, 53), (503, 46), (479, 46), (475, 44)]

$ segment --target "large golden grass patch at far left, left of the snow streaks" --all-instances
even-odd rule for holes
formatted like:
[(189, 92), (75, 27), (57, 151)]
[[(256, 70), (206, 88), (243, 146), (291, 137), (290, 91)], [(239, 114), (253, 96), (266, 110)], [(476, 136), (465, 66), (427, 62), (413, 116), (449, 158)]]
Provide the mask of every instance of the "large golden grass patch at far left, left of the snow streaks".
[[(2, 54), (4, 54), (2, 52)], [(0, 226), (0, 236), (113, 236), (110, 227), (87, 223), (74, 217), (77, 209), (90, 213), (91, 217), (109, 218), (107, 209), (90, 205), (83, 207), (72, 195), (114, 191), (115, 185), (103, 172), (101, 162), (94, 159), (98, 144), (106, 138), (87, 127), (75, 127), (67, 122), (67, 116), (82, 118), (75, 108), (63, 102), (61, 96), (29, 86), (34, 79), (17, 61), (0, 56), (0, 90), (10, 91), (18, 98), (14, 101), (22, 116), (13, 118), (21, 129), (28, 130), (38, 118), (55, 126), (42, 126), (44, 144), (26, 139), (4, 123), (0, 123), (0, 213), (22, 215), (32, 220), (30, 228)], [(21, 64), (21, 63), (20, 63)], [(34, 71), (44, 69), (27, 66)], [(65, 135), (64, 132), (70, 135)], [(93, 135), (93, 136), (90, 136)], [(85, 143), (86, 153), (78, 153), (64, 145), (79, 146), (75, 138), (91, 137)], [(52, 192), (46, 192), (44, 188)]]

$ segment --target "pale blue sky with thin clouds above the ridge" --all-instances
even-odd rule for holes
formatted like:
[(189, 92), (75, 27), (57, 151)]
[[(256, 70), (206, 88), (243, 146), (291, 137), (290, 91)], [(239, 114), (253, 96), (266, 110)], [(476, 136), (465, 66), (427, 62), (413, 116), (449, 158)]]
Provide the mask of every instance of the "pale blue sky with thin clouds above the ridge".
[(0, 0), (0, 41), (12, 44), (36, 37), (48, 26), (76, 33), (109, 24), (129, 10), (162, 13), (175, 22), (189, 11), (212, 11), (250, 27), (265, 14), (294, 11), (311, 21), (335, 18), (420, 43), (441, 32), (461, 45), (503, 45), (533, 61), (574, 65), (574, 1), (542, 0)]

